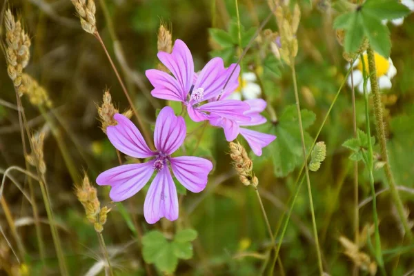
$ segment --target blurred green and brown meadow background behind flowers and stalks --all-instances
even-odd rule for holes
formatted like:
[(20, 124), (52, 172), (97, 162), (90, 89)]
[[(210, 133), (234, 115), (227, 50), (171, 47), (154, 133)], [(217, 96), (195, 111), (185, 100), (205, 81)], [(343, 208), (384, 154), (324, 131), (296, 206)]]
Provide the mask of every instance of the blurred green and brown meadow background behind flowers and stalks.
[[(315, 121), (311, 118), (313, 115), (309, 115), (311, 119), (307, 129), (308, 139), (313, 141), (344, 81), (346, 61), (342, 58), (342, 47), (337, 43), (332, 27), (336, 13), (329, 8), (329, 1), (313, 1), (312, 7), (307, 1), (299, 2), (302, 18), (297, 32), (297, 81), (302, 108), (316, 115)], [(151, 86), (144, 75), (145, 70), (157, 66), (157, 31), (160, 22), (168, 26), (174, 39), (182, 39), (187, 43), (193, 53), (196, 70), (201, 70), (208, 59), (216, 55), (224, 57), (228, 63), (237, 61), (236, 46), (223, 50), (209, 32), (210, 28), (228, 30), (231, 23), (235, 22), (237, 13), (233, 0), (106, 0), (106, 3), (119, 43), (124, 49), (124, 64), (120, 66), (119, 59), (115, 56), (99, 1), (96, 14), (98, 30), (117, 67), (128, 66), (127, 71), (121, 70), (121, 75), (136, 108), (148, 124), (155, 122), (157, 108), (166, 105), (164, 101), (148, 97)], [(259, 23), (270, 13), (267, 1), (240, 0), (238, 3), (244, 32), (251, 37)], [(110, 89), (119, 110), (128, 108), (128, 102), (108, 59), (95, 37), (81, 29), (70, 1), (10, 0), (6, 6), (19, 14), (19, 19), (30, 34), (32, 56), (26, 72), (46, 88), (54, 103), (53, 116), (59, 121), (59, 130), (70, 156), (75, 160), (79, 179), (85, 170), (93, 181), (99, 172), (117, 165), (116, 152), (100, 130), (97, 119), (96, 104), (101, 102), (103, 89)], [(414, 152), (414, 16), (406, 18), (400, 27), (389, 26), (393, 41), (391, 59), (397, 68), (397, 75), (393, 79), (393, 88), (382, 95), (386, 103), (388, 150), (398, 185), (410, 190), (402, 192), (402, 198), (406, 206), (413, 210), (414, 166), (411, 155)], [(265, 29), (277, 31), (274, 17)], [(261, 35), (263, 37), (263, 32)], [(2, 38), (4, 39), (4, 30)], [(253, 43), (242, 61), (242, 68), (244, 71), (252, 68), (263, 70), (262, 92), (281, 121), (279, 126), (267, 124), (262, 128), (270, 132), (276, 131), (279, 137), (264, 149), (262, 157), (253, 158), (259, 190), (270, 226), (275, 231), (289, 206), (290, 196), (295, 193), (295, 180), (302, 166), (302, 152), (300, 140), (295, 136), (298, 130), (284, 129), (282, 124), (284, 112), (295, 103), (290, 70), (262, 46), (260, 41)], [(0, 68), (0, 99), (15, 105), (14, 89), (8, 78), (3, 55), (0, 56), (0, 62), (3, 64)], [(357, 124), (364, 129), (364, 99), (358, 93), (356, 97)], [(26, 97), (22, 101), (32, 130), (46, 126), (37, 108), (31, 106)], [(343, 248), (338, 241), (340, 235), (353, 239), (353, 161), (348, 159), (350, 152), (342, 147), (342, 143), (353, 136), (352, 116), (351, 90), (344, 86), (318, 139), (327, 145), (327, 158), (320, 170), (311, 173), (319, 243), (324, 266), (330, 275), (351, 275), (353, 270), (352, 261), (342, 253)], [(290, 120), (295, 121), (295, 118)], [(373, 121), (375, 120), (371, 118)], [(285, 126), (289, 124), (286, 121)], [(285, 130), (288, 134), (293, 133), (291, 139), (279, 135)], [(374, 126), (371, 126), (371, 131), (375, 133)], [(278, 140), (279, 138), (282, 139)], [(216, 166), (206, 190), (199, 194), (187, 193), (181, 203), (180, 208), (184, 210), (181, 216), (186, 217), (183, 223), (186, 227), (197, 230), (198, 238), (193, 242), (193, 259), (180, 261), (176, 275), (255, 275), (264, 261), (262, 254), (270, 243), (255, 191), (243, 186), (235, 175), (222, 130), (207, 128), (200, 145), (213, 157)], [(14, 165), (24, 167), (17, 111), (4, 104), (0, 104), (0, 150), (1, 170)], [(377, 148), (375, 150), (379, 152)], [(59, 233), (70, 274), (84, 275), (99, 259), (98, 240), (75, 197), (73, 181), (52, 135), (46, 137), (44, 155), (52, 206), (59, 222)], [(369, 197), (371, 191), (366, 170), (360, 165), (359, 199), (362, 201)], [(17, 172), (13, 176), (22, 184), (26, 182), (25, 177)], [(375, 180), (377, 190), (386, 188), (382, 169), (375, 171)], [(27, 185), (25, 187), (27, 190)], [(108, 204), (110, 199), (107, 187), (99, 187), (98, 191), (101, 203)], [(40, 191), (37, 190), (36, 193), (39, 213), (46, 218)], [(3, 196), (14, 219), (32, 217), (30, 205), (10, 180), (6, 180)], [(144, 232), (152, 228), (163, 229), (166, 233), (174, 232), (174, 226), (166, 221), (155, 226), (146, 224), (142, 213), (143, 204), (144, 193), (138, 193), (128, 199), (124, 206)], [(400, 222), (388, 193), (377, 197), (377, 210), (383, 250), (402, 245)], [(359, 220), (361, 228), (373, 223), (371, 203), (360, 208)], [(10, 236), (1, 209), (0, 223), (6, 235)], [(41, 275), (36, 233), (32, 226), (23, 224), (18, 228), (18, 233), (30, 255), (27, 264), (30, 272), (26, 275)], [(46, 224), (42, 226), (42, 232), (47, 242), (46, 252), (50, 265), (48, 274), (57, 275), (57, 259), (52, 239), (48, 238), (50, 230)], [(112, 258), (116, 275), (146, 275), (140, 243), (122, 219), (117, 207), (110, 212), (103, 235), (108, 248), (115, 250), (111, 252), (116, 252)], [(280, 257), (285, 275), (317, 275), (317, 255), (305, 186), (302, 186), (299, 193), (282, 242)], [(15, 246), (13, 241), (12, 245)], [(257, 253), (259, 257), (247, 253)], [(369, 254), (369, 251), (366, 253)], [(24, 271), (17, 271), (20, 266), (3, 237), (0, 237), (0, 258), (0, 274), (10, 274), (10, 271), (16, 275), (25, 274)], [(392, 254), (385, 255), (385, 259), (386, 270), (390, 275), (404, 275), (414, 268), (413, 250), (401, 255), (398, 260)], [(157, 275), (153, 266), (151, 270), (153, 275)], [(103, 271), (100, 273), (103, 275)], [(275, 269), (275, 275), (279, 273)]]

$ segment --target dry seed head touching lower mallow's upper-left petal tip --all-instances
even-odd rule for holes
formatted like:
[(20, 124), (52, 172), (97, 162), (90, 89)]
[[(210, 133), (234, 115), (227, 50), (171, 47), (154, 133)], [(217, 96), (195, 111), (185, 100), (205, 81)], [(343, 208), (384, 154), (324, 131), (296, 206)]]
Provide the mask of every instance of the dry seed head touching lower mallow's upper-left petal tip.
[[(110, 95), (109, 90), (103, 91), (102, 103), (101, 106), (97, 106), (99, 121), (101, 121), (101, 129), (106, 133), (106, 128), (108, 126), (116, 126), (117, 121), (114, 119), (114, 115), (119, 113), (119, 110), (115, 108), (112, 103), (112, 96)], [(130, 119), (133, 115), (132, 110), (128, 109), (122, 113), (125, 117)]]

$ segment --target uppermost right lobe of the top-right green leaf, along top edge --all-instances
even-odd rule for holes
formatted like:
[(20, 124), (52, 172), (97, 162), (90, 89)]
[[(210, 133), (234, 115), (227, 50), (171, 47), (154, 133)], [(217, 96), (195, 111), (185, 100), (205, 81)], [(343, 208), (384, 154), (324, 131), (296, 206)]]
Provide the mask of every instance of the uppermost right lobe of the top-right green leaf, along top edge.
[(396, 0), (367, 0), (362, 11), (376, 19), (397, 19), (410, 14), (410, 10)]

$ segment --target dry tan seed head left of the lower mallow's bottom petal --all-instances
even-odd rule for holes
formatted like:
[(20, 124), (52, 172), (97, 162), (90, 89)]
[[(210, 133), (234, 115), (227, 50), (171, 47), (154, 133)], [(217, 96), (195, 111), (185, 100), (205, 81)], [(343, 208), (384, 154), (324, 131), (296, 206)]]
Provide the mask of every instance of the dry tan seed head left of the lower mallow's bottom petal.
[(75, 193), (78, 200), (83, 205), (83, 208), (85, 208), (86, 218), (93, 224), (95, 230), (98, 233), (101, 233), (103, 224), (106, 223), (107, 214), (110, 212), (110, 208), (106, 206), (101, 208), (97, 189), (90, 185), (88, 175), (85, 174), (81, 185), (75, 186)]

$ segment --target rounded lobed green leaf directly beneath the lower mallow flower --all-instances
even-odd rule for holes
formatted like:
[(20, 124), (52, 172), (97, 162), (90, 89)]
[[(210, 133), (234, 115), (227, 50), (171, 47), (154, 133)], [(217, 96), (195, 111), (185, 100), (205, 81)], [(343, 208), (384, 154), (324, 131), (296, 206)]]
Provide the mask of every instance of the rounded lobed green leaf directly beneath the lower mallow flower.
[(158, 230), (152, 230), (142, 237), (144, 261), (155, 264), (164, 273), (173, 273), (179, 259), (193, 257), (191, 242), (196, 238), (197, 231), (193, 229), (179, 230), (172, 241), (168, 241)]

